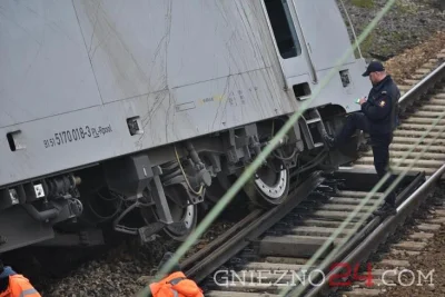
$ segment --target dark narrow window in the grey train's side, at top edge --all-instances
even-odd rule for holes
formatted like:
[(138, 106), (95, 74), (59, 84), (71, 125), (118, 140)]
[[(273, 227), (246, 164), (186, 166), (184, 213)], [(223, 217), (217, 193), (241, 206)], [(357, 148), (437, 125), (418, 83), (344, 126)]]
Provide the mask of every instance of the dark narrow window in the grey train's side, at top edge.
[(264, 0), (274, 30), (275, 40), (283, 59), (301, 53), (297, 32), (290, 17), (287, 0)]

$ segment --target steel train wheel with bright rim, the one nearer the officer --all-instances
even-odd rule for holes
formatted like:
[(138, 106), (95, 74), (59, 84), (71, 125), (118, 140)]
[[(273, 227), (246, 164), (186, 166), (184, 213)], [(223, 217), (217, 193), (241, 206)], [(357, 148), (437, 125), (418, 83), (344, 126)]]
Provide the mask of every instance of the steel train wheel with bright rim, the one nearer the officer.
[(260, 167), (244, 187), (249, 199), (264, 208), (280, 205), (289, 192), (289, 170), (280, 160)]

